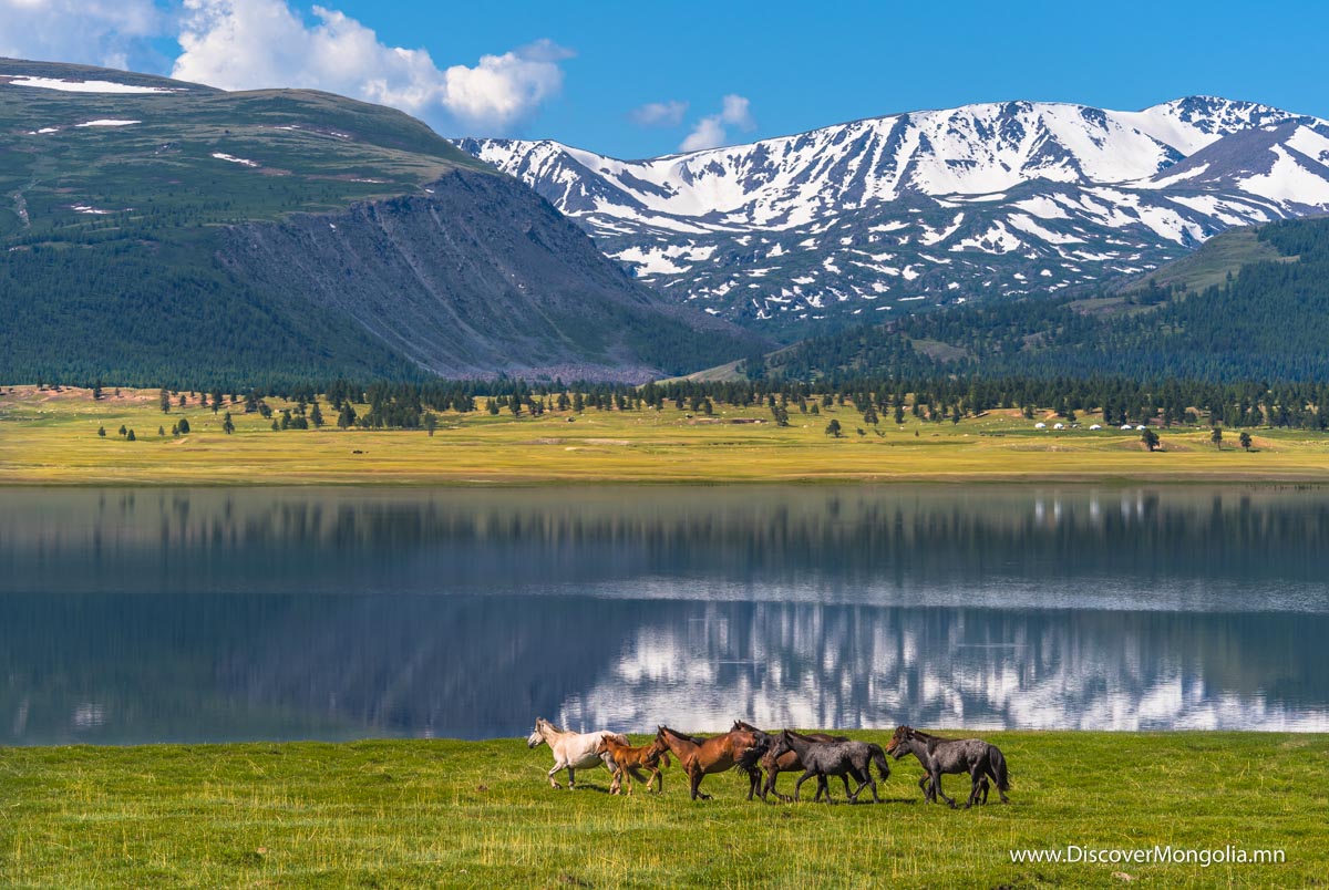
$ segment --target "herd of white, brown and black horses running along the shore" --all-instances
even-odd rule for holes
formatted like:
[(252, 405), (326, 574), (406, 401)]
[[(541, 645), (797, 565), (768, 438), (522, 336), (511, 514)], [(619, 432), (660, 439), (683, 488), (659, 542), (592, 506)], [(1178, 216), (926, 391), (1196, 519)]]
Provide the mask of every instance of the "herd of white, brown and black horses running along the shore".
[[(777, 733), (763, 732), (742, 720), (734, 721), (728, 732), (707, 739), (661, 727), (655, 739), (646, 745), (631, 745), (622, 733), (599, 729), (597, 732), (566, 732), (544, 717), (536, 720), (536, 729), (526, 739), (529, 748), (548, 744), (554, 753), (554, 766), (549, 770), (549, 784), (558, 788), (554, 778), (561, 770), (567, 770), (567, 788), (575, 788), (577, 770), (603, 765), (613, 774), (610, 793), (617, 794), (627, 785), (633, 793), (633, 780), (645, 781), (646, 790), (664, 789), (664, 776), (661, 772), (670, 765), (670, 756), (678, 760), (688, 778), (692, 800), (710, 800), (700, 792), (702, 780), (711, 773), (723, 773), (738, 768), (748, 778), (748, 800), (760, 796), (763, 801), (775, 794), (781, 801), (797, 801), (799, 789), (809, 778), (817, 780), (817, 793), (813, 802), (825, 794), (831, 802), (831, 778), (844, 782), (844, 793), (851, 804), (859, 802), (864, 789), (872, 792), (877, 804), (877, 781), (890, 774), (886, 755), (896, 760), (913, 755), (922, 764), (925, 774), (918, 780), (924, 800), (936, 804), (941, 797), (956, 805), (954, 798), (941, 790), (944, 774), (969, 773), (970, 788), (966, 808), (986, 804), (989, 778), (997, 785), (1003, 804), (1009, 802), (1010, 777), (1006, 770), (1006, 757), (997, 745), (982, 739), (942, 739), (910, 727), (897, 727), (890, 741), (882, 751), (870, 741), (856, 741), (845, 736), (827, 733), (800, 733), (781, 729)], [(776, 790), (775, 781), (780, 773), (801, 770), (793, 785), (793, 797)], [(763, 781), (763, 772), (766, 773)], [(849, 780), (859, 784), (849, 790)]]

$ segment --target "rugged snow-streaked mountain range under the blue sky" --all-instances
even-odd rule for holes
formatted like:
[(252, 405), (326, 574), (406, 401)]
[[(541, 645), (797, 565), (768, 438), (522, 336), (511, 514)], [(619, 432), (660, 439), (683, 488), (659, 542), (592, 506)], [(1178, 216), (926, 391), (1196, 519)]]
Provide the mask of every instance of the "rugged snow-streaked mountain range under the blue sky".
[(1140, 272), (1231, 226), (1329, 210), (1329, 124), (1212, 97), (968, 105), (645, 161), (459, 145), (679, 302), (788, 337)]

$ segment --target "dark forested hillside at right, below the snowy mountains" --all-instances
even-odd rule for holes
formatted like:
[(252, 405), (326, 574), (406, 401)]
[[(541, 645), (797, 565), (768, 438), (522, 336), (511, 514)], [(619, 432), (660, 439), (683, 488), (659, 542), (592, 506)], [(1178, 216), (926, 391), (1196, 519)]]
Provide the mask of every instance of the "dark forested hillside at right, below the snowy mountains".
[(813, 337), (750, 373), (1329, 377), (1329, 218), (1233, 230), (1119, 292), (944, 308)]

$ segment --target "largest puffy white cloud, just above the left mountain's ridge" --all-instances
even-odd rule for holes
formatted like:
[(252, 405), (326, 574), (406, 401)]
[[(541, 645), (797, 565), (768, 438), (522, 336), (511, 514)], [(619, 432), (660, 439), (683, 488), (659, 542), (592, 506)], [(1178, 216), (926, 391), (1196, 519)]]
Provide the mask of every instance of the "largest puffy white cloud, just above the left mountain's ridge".
[(173, 76), (222, 89), (323, 89), (489, 135), (510, 132), (557, 96), (558, 62), (571, 56), (545, 40), (440, 70), (424, 49), (388, 46), (336, 9), (312, 12), (306, 24), (286, 0), (183, 0), (183, 52)]

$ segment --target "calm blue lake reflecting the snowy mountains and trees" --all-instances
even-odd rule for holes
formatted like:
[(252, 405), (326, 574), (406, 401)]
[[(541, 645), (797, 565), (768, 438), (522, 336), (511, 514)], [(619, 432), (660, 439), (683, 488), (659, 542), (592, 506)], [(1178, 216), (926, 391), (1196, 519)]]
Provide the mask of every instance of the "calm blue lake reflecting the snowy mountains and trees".
[(1329, 731), (1329, 489), (0, 490), (0, 745)]

